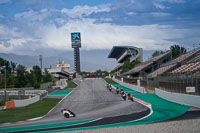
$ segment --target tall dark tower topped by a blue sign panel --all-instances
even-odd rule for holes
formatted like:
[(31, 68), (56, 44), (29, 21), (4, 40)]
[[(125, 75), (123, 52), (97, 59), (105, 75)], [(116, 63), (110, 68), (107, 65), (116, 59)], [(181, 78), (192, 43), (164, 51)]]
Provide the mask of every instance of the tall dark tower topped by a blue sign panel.
[(72, 42), (72, 48), (74, 48), (74, 69), (77, 73), (80, 73), (81, 69), (80, 69), (79, 48), (81, 48), (81, 33), (80, 32), (71, 33), (71, 42)]

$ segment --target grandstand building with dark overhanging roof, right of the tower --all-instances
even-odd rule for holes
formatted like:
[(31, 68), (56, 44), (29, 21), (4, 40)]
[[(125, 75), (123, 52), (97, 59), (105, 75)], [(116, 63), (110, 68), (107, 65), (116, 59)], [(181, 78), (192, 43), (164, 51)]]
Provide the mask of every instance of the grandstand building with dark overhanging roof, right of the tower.
[(119, 65), (113, 69), (116, 73), (120, 73), (121, 67), (125, 61), (133, 62), (138, 60), (143, 62), (143, 50), (133, 46), (114, 46), (108, 58), (115, 58)]

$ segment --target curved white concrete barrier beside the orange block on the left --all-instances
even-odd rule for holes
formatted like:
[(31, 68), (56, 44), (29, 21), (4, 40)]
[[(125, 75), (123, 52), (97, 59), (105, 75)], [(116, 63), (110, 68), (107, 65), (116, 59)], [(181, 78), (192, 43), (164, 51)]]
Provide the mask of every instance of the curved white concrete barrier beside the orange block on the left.
[(39, 100), (40, 100), (40, 96), (34, 96), (32, 98), (24, 99), (24, 100), (14, 100), (14, 103), (15, 103), (15, 107), (24, 107), (24, 106), (33, 104)]

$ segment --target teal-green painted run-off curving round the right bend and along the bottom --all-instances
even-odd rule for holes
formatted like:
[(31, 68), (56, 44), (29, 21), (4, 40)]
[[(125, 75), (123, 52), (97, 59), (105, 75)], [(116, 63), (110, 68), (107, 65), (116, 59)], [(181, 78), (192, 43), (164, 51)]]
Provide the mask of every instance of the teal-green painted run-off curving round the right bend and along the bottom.
[[(61, 132), (61, 131), (73, 131), (73, 130), (86, 130), (86, 129), (98, 129), (98, 128), (108, 128), (108, 127), (118, 127), (118, 126), (133, 126), (133, 125), (139, 125), (139, 124), (148, 124), (153, 122), (160, 122), (169, 120), (174, 117), (178, 117), (185, 112), (188, 111), (190, 108), (189, 106), (176, 104), (173, 102), (166, 101), (162, 98), (159, 98), (155, 94), (142, 94), (140, 92), (134, 91), (132, 89), (126, 88), (124, 86), (121, 86), (119, 84), (114, 84), (115, 87), (123, 88), (123, 90), (126, 93), (132, 94), (134, 97), (141, 99), (147, 103), (150, 103), (152, 105), (153, 113), (142, 120), (139, 121), (131, 121), (131, 122), (124, 122), (119, 124), (111, 124), (111, 125), (103, 125), (103, 126), (93, 126), (93, 127), (85, 127), (85, 128), (76, 128), (76, 129), (64, 129), (64, 130), (56, 130), (51, 132)], [(65, 94), (66, 95), (66, 94)], [(86, 120), (91, 121), (91, 120)], [(75, 123), (75, 122), (74, 122)], [(64, 126), (64, 125), (73, 125), (73, 122), (71, 123), (58, 123), (58, 124), (51, 124), (51, 125), (40, 125), (40, 126), (29, 126), (29, 127), (20, 127), (20, 128), (12, 128), (14, 129), (38, 129), (38, 128), (48, 128), (48, 127), (57, 127), (57, 126)], [(77, 122), (79, 123), (79, 122)], [(80, 122), (81, 123), (81, 122)], [(3, 131), (0, 129), (0, 132)], [(4, 130), (6, 131), (6, 130)], [(10, 131), (10, 130), (7, 130)]]

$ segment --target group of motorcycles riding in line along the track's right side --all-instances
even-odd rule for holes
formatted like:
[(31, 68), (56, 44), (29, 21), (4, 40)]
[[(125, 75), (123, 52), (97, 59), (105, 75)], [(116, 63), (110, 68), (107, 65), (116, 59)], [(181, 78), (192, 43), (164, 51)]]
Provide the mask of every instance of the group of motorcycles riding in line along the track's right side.
[[(113, 89), (111, 84), (107, 84), (107, 88), (109, 89), (109, 91), (112, 91), (112, 89)], [(124, 99), (124, 101), (126, 101), (127, 97), (128, 97), (128, 100), (131, 100), (132, 102), (134, 101), (133, 96), (130, 93), (128, 93), (128, 95), (127, 95), (123, 89), (120, 89), (119, 87), (117, 87), (115, 89), (115, 91), (117, 94), (121, 95), (121, 97)]]

